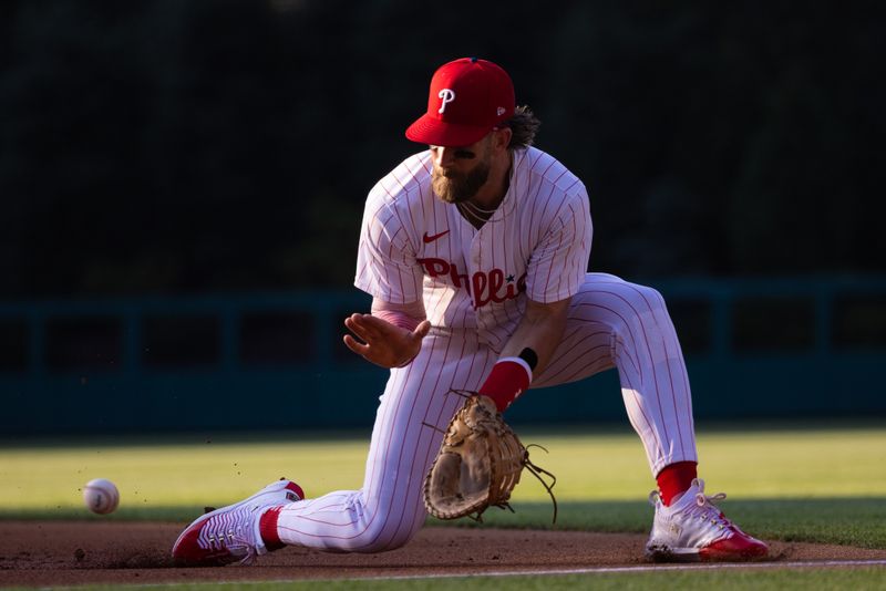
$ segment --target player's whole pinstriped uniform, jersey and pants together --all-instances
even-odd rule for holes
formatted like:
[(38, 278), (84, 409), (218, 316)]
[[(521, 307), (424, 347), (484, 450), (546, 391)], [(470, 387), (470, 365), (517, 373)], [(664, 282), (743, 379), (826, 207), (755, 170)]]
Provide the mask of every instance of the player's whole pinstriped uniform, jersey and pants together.
[(533, 387), (615, 366), (652, 473), (696, 459), (689, 381), (664, 302), (587, 273), (590, 240), (584, 185), (535, 148), (515, 153), (507, 195), (480, 230), (433, 195), (430, 153), (382, 178), (367, 199), (354, 283), (391, 303), (421, 300), (433, 328), (419, 356), (391, 371), (363, 487), (286, 506), (280, 539), (357, 552), (405, 543), (424, 522), (424, 476), (443, 437), (425, 423), (444, 429), (462, 404), (450, 390), (480, 387), (527, 296), (571, 298), (563, 343)]

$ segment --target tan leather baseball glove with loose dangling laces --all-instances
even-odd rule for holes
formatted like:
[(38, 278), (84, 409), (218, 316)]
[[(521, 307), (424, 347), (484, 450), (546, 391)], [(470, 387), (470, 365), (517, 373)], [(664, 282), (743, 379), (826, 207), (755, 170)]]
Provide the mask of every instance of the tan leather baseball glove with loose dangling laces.
[[(454, 391), (455, 392), (455, 391)], [(556, 478), (529, 462), (529, 453), (487, 396), (473, 392), (450, 422), (443, 444), (424, 480), (424, 506), (439, 519), (471, 516), (482, 521), (488, 507), (507, 508), (524, 468), (538, 478), (554, 500)], [(553, 479), (548, 485), (539, 474)]]

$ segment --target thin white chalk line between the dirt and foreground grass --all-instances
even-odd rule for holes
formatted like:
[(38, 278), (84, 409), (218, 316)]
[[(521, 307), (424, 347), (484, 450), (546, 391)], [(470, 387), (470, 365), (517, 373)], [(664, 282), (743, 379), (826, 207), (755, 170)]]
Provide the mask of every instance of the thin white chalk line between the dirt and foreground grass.
[[(705, 564), (646, 564), (640, 567), (587, 567), (580, 569), (521, 569), (513, 571), (488, 571), (472, 573), (403, 574), (393, 577), (357, 577), (353, 579), (329, 579), (336, 581), (378, 581), (378, 580), (429, 580), (482, 577), (543, 577), (562, 574), (611, 574), (630, 572), (663, 572), (692, 570), (728, 569), (810, 569), (810, 568), (854, 568), (886, 567), (886, 559), (870, 560), (796, 560), (789, 562), (717, 562)], [(279, 582), (279, 581), (278, 581)]]

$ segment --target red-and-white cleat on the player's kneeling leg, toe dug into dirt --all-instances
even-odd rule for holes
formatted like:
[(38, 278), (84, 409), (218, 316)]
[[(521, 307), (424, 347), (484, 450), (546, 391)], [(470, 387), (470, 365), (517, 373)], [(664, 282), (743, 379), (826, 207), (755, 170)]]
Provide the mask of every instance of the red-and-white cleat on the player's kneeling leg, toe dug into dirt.
[(266, 554), (259, 532), (259, 519), (269, 508), (305, 498), (301, 487), (291, 480), (271, 483), (251, 497), (198, 517), (178, 536), (173, 560), (188, 567), (218, 567), (239, 561), (249, 564)]

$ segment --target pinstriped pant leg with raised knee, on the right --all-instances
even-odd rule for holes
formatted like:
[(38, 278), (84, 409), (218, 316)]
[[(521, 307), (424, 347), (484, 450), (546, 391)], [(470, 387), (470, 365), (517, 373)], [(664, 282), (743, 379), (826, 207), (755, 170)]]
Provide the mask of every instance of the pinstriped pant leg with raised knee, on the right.
[(689, 377), (664, 300), (651, 288), (588, 273), (573, 297), (564, 340), (532, 387), (614, 366), (652, 474), (676, 462), (698, 462)]

